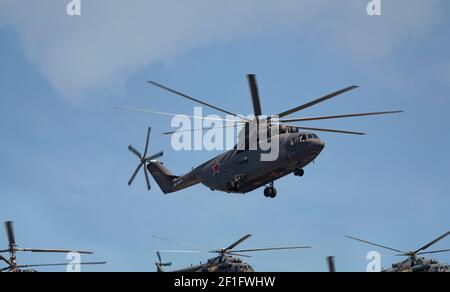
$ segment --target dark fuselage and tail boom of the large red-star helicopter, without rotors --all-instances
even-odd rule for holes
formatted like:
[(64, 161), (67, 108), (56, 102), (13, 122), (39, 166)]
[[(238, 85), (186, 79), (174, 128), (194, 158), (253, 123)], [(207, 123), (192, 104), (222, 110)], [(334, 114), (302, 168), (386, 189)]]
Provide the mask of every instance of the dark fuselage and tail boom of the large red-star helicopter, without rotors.
[(245, 194), (302, 170), (319, 156), (325, 146), (312, 133), (289, 131), (280, 133), (278, 138), (278, 155), (272, 161), (261, 159), (265, 151), (260, 147), (256, 150), (238, 150), (235, 147), (180, 177), (171, 175), (158, 161), (150, 162), (147, 168), (166, 194), (199, 183), (213, 191)]

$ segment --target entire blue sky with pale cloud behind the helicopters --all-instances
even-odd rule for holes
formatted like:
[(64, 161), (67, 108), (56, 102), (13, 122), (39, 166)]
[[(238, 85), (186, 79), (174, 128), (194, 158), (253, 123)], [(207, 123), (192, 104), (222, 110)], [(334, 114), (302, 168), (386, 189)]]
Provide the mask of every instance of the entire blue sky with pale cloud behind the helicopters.
[[(0, 220), (16, 221), (19, 244), (95, 250), (84, 260), (108, 265), (94, 270), (153, 271), (153, 250), (180, 247), (151, 234), (220, 248), (251, 233), (242, 247), (313, 246), (259, 254), (249, 260), (258, 271), (324, 271), (329, 255), (364, 271), (355, 257), (373, 249), (344, 235), (408, 250), (449, 230), (449, 3), (382, 1), (383, 15), (369, 17), (365, 1), (191, 2), (84, 1), (69, 17), (64, 1), (1, 0)], [(369, 135), (320, 134), (325, 150), (303, 178), (277, 182), (276, 200), (203, 186), (164, 196), (142, 175), (127, 186), (137, 163), (127, 146), (142, 148), (147, 126), (176, 174), (218, 153), (175, 152), (159, 134), (169, 118), (115, 105), (192, 114), (151, 79), (249, 114), (247, 73), (268, 114), (351, 84), (361, 88), (302, 114), (406, 112), (311, 123)], [(179, 268), (208, 255), (164, 258)]]

